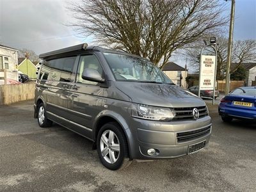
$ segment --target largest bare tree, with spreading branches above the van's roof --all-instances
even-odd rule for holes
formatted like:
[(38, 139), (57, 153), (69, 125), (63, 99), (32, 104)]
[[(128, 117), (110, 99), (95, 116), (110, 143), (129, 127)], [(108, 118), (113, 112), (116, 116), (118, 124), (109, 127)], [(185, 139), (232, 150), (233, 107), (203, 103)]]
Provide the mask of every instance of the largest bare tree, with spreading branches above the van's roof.
[(160, 68), (173, 51), (227, 23), (218, 0), (81, 0), (69, 7), (83, 35), (148, 58)]

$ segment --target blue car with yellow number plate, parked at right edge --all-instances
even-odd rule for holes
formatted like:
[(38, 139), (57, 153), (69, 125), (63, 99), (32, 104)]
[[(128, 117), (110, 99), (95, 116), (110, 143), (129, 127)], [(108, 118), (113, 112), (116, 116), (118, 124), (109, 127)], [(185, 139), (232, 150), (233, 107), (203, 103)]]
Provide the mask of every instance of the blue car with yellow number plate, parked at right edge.
[(223, 122), (233, 118), (256, 120), (256, 86), (240, 87), (223, 97), (219, 105)]

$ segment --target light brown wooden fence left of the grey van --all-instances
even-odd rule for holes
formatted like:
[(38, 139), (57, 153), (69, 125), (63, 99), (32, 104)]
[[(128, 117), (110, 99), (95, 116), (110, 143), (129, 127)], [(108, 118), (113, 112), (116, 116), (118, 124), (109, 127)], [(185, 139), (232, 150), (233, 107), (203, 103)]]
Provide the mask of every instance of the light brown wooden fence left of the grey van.
[(0, 105), (35, 97), (35, 83), (0, 85)]

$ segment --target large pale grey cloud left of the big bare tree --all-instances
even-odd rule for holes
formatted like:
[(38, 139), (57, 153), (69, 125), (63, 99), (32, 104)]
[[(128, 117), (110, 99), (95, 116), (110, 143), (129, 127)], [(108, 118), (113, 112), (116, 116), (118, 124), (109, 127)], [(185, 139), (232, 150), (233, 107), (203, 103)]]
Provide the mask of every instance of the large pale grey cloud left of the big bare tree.
[(72, 20), (61, 0), (1, 0), (0, 43), (37, 54), (92, 40), (65, 26)]

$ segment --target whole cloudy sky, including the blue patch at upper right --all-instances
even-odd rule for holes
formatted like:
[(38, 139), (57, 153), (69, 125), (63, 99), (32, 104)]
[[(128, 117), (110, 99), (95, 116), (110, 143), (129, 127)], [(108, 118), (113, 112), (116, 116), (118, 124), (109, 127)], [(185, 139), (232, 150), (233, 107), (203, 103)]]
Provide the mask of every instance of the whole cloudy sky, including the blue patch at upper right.
[[(230, 12), (230, 0), (220, 1)], [(0, 44), (31, 49), (36, 54), (83, 42), (90, 44), (92, 37), (81, 37), (67, 26), (74, 21), (67, 6), (65, 0), (0, 0)], [(236, 0), (234, 39), (256, 40), (256, 0)], [(172, 61), (185, 65), (180, 58)]]

